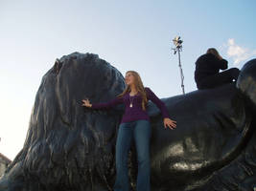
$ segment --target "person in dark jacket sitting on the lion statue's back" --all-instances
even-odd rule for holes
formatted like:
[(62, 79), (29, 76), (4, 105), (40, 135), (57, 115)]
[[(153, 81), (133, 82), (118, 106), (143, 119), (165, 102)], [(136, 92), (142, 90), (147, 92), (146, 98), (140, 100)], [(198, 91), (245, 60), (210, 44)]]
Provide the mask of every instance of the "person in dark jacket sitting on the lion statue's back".
[[(236, 81), (240, 70), (227, 69), (227, 61), (214, 48), (198, 57), (196, 61), (195, 81), (198, 89), (210, 89)], [(220, 73), (220, 70), (225, 70)]]

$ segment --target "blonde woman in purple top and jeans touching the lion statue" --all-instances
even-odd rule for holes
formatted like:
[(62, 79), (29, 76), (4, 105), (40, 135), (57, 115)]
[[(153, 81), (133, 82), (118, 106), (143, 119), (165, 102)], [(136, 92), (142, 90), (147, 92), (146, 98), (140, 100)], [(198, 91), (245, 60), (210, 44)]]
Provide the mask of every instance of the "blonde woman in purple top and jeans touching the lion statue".
[(125, 104), (126, 111), (118, 130), (116, 141), (116, 181), (115, 191), (129, 191), (128, 182), (128, 151), (134, 140), (137, 160), (138, 176), (137, 191), (151, 190), (150, 138), (151, 123), (147, 114), (147, 103), (151, 100), (160, 109), (165, 128), (175, 129), (175, 120), (169, 117), (165, 104), (153, 94), (150, 88), (144, 87), (140, 75), (135, 71), (126, 73), (127, 87), (124, 92), (106, 103), (91, 104), (88, 99), (82, 100), (82, 106), (92, 109), (110, 109), (117, 104)]

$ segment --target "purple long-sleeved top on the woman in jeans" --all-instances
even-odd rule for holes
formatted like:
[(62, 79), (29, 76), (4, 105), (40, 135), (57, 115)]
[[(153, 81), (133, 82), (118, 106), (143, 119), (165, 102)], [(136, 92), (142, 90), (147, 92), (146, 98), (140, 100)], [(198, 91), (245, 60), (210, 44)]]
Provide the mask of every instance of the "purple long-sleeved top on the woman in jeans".
[[(148, 100), (151, 100), (160, 109), (162, 116), (169, 117), (165, 104), (157, 96), (154, 95), (150, 88), (145, 87), (145, 91)], [(129, 96), (129, 93), (127, 93), (123, 97), (116, 97), (105, 103), (93, 103), (91, 108), (110, 109), (121, 103), (124, 103), (126, 106), (126, 111), (122, 117), (121, 123), (140, 119), (150, 120), (147, 110), (144, 111), (142, 109), (142, 96), (140, 96), (140, 94)], [(130, 103), (132, 103), (132, 107), (129, 107)]]

